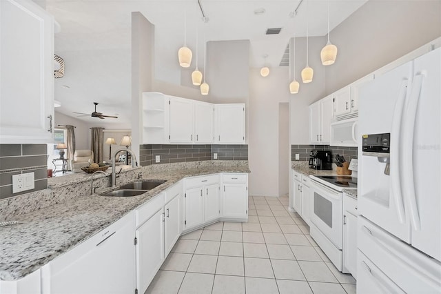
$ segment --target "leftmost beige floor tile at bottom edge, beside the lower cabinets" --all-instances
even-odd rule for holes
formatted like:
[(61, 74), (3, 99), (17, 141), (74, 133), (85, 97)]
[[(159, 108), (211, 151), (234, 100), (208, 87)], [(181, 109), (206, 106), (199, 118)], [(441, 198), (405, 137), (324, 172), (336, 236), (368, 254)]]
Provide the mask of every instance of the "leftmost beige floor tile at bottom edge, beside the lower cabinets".
[(179, 271), (158, 271), (145, 294), (178, 293), (185, 273)]

